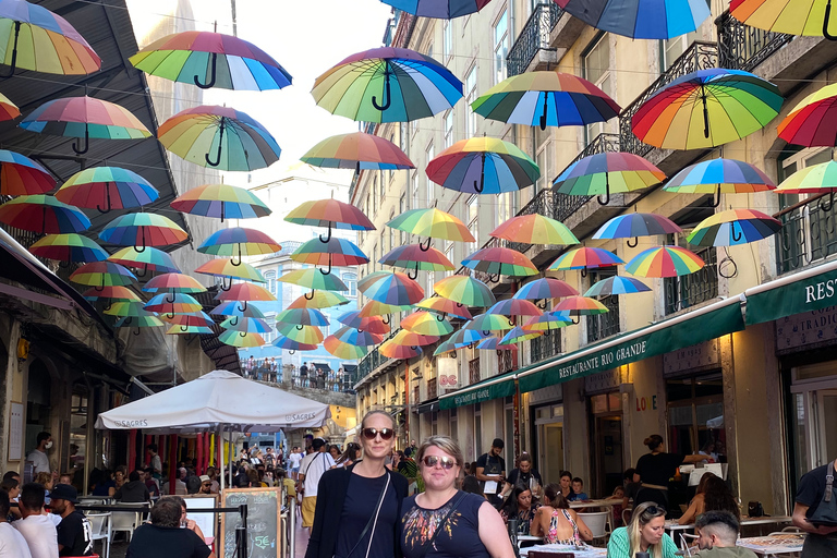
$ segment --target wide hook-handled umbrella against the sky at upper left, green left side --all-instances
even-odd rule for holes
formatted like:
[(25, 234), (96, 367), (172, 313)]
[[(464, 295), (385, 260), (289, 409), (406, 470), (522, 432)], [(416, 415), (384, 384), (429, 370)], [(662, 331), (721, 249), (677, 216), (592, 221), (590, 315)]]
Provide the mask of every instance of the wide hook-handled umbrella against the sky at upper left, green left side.
[(202, 89), (281, 89), (291, 85), (279, 62), (231, 35), (187, 31), (155, 40), (130, 58), (137, 70)]

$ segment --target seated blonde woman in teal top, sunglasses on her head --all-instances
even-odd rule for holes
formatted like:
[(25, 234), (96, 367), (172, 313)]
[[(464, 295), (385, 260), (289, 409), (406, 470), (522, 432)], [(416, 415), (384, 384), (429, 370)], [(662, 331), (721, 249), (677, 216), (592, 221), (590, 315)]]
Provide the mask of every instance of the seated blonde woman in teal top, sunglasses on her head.
[(648, 553), (651, 558), (675, 558), (677, 545), (665, 532), (666, 509), (653, 501), (633, 509), (631, 522), (610, 534), (607, 558), (634, 558), (636, 553)]

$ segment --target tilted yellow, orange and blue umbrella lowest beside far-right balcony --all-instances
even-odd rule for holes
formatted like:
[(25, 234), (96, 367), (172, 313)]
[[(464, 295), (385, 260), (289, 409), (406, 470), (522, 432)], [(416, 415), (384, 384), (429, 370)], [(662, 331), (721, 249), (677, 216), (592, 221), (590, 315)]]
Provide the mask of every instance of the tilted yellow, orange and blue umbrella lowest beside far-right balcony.
[(766, 239), (781, 229), (781, 221), (755, 209), (729, 209), (701, 221), (686, 238), (698, 246), (735, 246)]

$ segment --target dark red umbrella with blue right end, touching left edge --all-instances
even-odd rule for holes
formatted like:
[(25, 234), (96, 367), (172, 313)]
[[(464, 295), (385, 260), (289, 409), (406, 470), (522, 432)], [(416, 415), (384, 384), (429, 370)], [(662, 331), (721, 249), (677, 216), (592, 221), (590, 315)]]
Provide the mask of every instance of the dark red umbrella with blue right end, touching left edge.
[(82, 232), (90, 227), (80, 209), (45, 194), (17, 196), (0, 205), (0, 221), (40, 234)]

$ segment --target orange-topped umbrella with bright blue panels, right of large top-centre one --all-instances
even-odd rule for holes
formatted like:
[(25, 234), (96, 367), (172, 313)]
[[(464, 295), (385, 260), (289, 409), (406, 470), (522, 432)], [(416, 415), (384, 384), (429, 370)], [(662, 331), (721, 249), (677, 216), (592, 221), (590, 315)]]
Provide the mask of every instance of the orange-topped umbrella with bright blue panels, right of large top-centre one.
[(526, 126), (581, 126), (606, 122), (621, 108), (583, 77), (562, 72), (525, 72), (504, 80), (471, 104), (490, 120)]

